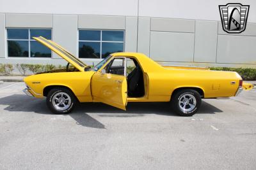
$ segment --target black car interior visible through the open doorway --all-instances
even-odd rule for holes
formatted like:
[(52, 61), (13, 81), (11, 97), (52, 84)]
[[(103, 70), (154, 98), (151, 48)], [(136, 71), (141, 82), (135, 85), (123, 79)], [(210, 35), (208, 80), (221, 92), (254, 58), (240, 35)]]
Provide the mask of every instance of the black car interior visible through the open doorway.
[(143, 97), (145, 95), (143, 72), (140, 64), (132, 59), (135, 68), (127, 76), (127, 93), (129, 97)]

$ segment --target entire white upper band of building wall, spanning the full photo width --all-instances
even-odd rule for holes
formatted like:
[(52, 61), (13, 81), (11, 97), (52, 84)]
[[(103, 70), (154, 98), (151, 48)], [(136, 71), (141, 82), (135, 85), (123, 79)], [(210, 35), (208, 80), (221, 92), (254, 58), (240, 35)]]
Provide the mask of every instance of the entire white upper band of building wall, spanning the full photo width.
[[(122, 15), (140, 17), (220, 20), (218, 5), (230, 0), (0, 0), (0, 13), (49, 13), (84, 15)], [(256, 23), (256, 1), (240, 0), (250, 5), (248, 22)]]

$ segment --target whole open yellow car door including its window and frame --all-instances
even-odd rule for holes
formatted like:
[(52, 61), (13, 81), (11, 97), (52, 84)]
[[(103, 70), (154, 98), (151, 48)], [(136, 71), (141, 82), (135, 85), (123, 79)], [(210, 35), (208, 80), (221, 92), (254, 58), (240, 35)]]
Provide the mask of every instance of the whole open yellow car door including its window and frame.
[[(113, 66), (118, 64), (120, 66)], [(115, 72), (111, 70), (115, 67)], [(118, 70), (116, 69), (118, 68)], [(125, 57), (113, 59), (103, 69), (92, 76), (91, 89), (94, 102), (102, 102), (126, 110), (127, 80), (125, 76)]]

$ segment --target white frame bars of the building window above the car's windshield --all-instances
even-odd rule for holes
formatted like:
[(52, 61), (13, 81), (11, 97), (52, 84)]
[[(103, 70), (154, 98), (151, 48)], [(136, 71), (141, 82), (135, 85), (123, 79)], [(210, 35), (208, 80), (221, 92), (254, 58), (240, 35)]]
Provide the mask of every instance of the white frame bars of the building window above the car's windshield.
[[(100, 31), (100, 40), (95, 41), (95, 40), (80, 40), (79, 39), (79, 31)], [(124, 32), (124, 41), (102, 41), (102, 31), (122, 31)], [(95, 43), (100, 43), (100, 57), (99, 60), (102, 60), (102, 43), (123, 43), (123, 49), (125, 49), (125, 30), (121, 29), (78, 29), (77, 30), (77, 57), (79, 59), (95, 59), (95, 58), (82, 58), (79, 57), (79, 43), (80, 42), (95, 42)]]

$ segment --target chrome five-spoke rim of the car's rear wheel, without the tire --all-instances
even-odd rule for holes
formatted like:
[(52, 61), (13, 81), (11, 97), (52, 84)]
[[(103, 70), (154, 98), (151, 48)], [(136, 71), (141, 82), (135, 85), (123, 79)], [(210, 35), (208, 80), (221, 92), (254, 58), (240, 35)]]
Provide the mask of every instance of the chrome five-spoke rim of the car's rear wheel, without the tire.
[(179, 97), (179, 108), (183, 113), (188, 113), (196, 107), (196, 98), (192, 94), (183, 94)]

